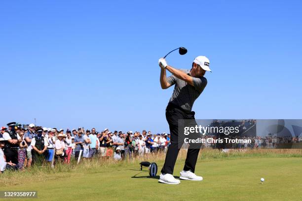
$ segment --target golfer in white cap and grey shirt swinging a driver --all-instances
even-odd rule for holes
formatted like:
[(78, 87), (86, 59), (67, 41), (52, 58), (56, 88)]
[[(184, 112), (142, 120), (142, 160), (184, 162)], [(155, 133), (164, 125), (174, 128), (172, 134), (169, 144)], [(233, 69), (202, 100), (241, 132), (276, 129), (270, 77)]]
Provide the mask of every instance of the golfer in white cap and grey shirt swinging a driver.
[[(203, 77), (206, 71), (211, 71), (210, 61), (205, 56), (194, 59), (190, 70), (178, 70), (167, 65), (165, 59), (158, 60), (160, 71), (160, 85), (167, 89), (175, 84), (172, 97), (166, 108), (166, 119), (171, 133), (171, 144), (168, 148), (165, 164), (161, 169), (159, 182), (167, 184), (180, 184), (180, 180), (173, 177), (173, 170), (180, 150), (178, 146), (178, 120), (195, 119), (192, 106), (194, 101), (207, 85), (207, 79)], [(172, 73), (166, 77), (166, 69)], [(180, 142), (183, 143), (183, 142)], [(180, 172), (180, 178), (186, 180), (202, 180), (201, 176), (194, 174), (199, 149), (188, 149), (184, 169)]]

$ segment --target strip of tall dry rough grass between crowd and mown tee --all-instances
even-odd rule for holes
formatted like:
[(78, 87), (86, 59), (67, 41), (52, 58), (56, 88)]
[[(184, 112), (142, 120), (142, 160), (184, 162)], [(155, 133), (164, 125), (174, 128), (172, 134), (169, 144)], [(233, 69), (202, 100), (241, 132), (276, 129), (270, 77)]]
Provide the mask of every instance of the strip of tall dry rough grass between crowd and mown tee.
[[(185, 160), (187, 150), (182, 149), (179, 152), (178, 160)], [(244, 151), (229, 150), (227, 153), (218, 149), (202, 149), (198, 160), (229, 160), (236, 158), (302, 158), (302, 149), (250, 149)], [(46, 181), (57, 178), (71, 176), (75, 172), (108, 172), (116, 169), (122, 169), (132, 164), (139, 164), (142, 161), (163, 162), (165, 154), (148, 154), (144, 157), (136, 157), (122, 161), (115, 161), (112, 158), (94, 158), (91, 160), (81, 160), (80, 164), (76, 164), (75, 160), (71, 164), (57, 163), (54, 168), (49, 164), (43, 166), (33, 166), (23, 171), (5, 171), (0, 174), (0, 186), (11, 186), (22, 184), (27, 181)]]

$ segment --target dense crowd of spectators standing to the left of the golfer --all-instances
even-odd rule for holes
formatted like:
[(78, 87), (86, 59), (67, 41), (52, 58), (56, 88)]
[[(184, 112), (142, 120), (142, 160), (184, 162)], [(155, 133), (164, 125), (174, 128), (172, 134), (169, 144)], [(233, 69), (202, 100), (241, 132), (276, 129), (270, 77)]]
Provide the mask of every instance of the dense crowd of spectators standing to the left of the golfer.
[(142, 157), (144, 154), (166, 152), (170, 134), (148, 134), (104, 129), (97, 132), (78, 129), (46, 128), (35, 124), (21, 125), (11, 122), (1, 127), (0, 172), (5, 169), (30, 168), (33, 164), (65, 163), (72, 158), (89, 160), (99, 157), (122, 160)]

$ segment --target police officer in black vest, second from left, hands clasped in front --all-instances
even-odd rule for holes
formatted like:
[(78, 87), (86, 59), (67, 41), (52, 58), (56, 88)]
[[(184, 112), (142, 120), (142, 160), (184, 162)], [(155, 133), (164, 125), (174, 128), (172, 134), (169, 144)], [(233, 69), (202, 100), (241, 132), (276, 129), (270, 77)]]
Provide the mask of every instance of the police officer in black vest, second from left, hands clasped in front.
[(42, 162), (42, 160), (45, 158), (45, 151), (48, 145), (47, 139), (42, 135), (43, 129), (38, 128), (36, 132), (37, 135), (32, 139), (31, 142), (31, 146), (33, 147), (33, 163)]

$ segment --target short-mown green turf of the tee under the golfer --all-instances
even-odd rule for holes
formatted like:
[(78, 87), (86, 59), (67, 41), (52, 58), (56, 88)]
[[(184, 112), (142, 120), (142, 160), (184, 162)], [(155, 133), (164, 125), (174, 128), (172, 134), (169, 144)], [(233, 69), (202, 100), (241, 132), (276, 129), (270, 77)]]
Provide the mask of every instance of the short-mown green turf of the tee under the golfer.
[[(158, 168), (163, 165), (159, 162)], [(184, 165), (178, 160), (174, 176)], [(302, 158), (237, 158), (198, 160), (195, 173), (203, 181), (167, 185), (149, 178), (139, 164), (66, 172), (57, 180), (26, 182), (1, 190), (37, 190), (43, 201), (171, 200), (171, 201), (301, 201)], [(145, 170), (147, 168), (145, 167)], [(159, 174), (159, 172), (157, 173)], [(265, 182), (261, 184), (260, 178)], [(9, 201), (11, 199), (5, 199)]]

